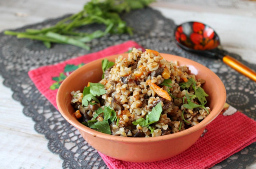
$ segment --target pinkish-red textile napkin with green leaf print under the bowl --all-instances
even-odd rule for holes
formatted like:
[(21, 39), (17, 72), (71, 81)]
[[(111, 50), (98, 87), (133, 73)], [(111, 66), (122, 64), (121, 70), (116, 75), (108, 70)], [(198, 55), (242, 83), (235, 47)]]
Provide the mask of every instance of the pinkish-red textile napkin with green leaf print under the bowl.
[[(127, 41), (56, 65), (40, 67), (29, 71), (28, 75), (38, 90), (57, 108), (58, 87), (72, 71), (90, 61), (128, 52), (132, 47), (143, 49), (136, 42)], [(254, 141), (256, 122), (230, 106), (206, 126), (206, 130), (194, 145), (175, 157), (150, 163), (132, 163), (108, 157), (100, 152), (99, 154), (110, 169), (204, 169), (212, 167)]]

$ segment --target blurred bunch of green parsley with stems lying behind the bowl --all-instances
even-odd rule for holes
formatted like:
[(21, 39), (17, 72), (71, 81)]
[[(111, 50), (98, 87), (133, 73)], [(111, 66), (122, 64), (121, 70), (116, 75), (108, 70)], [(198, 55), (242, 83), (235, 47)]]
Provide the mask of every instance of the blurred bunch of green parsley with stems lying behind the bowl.
[[(66, 43), (90, 50), (86, 42), (105, 36), (107, 33), (130, 33), (132, 28), (120, 18), (123, 12), (144, 8), (154, 0), (91, 0), (77, 14), (67, 17), (54, 26), (42, 29), (26, 29), (24, 32), (5, 31), (6, 35), (17, 38), (42, 41), (47, 48), (52, 43)], [(76, 28), (89, 24), (104, 24), (105, 30), (92, 33), (77, 31)]]

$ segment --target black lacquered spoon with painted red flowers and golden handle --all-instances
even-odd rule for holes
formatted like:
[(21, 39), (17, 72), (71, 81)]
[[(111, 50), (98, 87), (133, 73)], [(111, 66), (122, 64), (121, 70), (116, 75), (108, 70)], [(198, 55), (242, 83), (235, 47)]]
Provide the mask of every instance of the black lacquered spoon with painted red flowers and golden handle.
[(222, 59), (222, 61), (256, 82), (256, 72), (233, 57), (226, 55), (220, 45), (218, 34), (210, 26), (201, 22), (185, 22), (174, 31), (175, 42), (186, 51), (203, 56)]

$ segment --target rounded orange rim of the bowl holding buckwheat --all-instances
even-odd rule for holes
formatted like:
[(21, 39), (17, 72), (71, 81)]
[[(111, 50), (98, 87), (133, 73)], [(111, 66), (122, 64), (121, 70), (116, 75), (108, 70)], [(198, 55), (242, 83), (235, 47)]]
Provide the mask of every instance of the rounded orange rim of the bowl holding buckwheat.
[[(90, 63), (86, 63), (86, 65), (83, 65), (82, 67), (78, 68), (76, 71), (74, 72), (83, 72), (84, 69), (86, 69), (87, 66), (89, 65), (94, 65), (95, 63), (99, 62), (101, 63), (101, 61), (103, 59), (113, 59), (118, 57), (119, 55), (122, 56), (128, 56), (128, 53), (122, 53), (122, 54), (117, 54), (117, 55), (111, 55), (108, 57), (103, 57), (100, 59), (97, 59), (95, 61), (92, 61)], [(98, 132), (96, 130), (93, 130), (91, 128), (88, 128), (86, 126), (84, 126), (82, 123), (78, 122), (78, 120), (76, 120), (74, 117), (72, 117), (69, 113), (65, 113), (64, 110), (62, 109), (62, 107), (60, 106), (60, 102), (59, 100), (61, 100), (61, 93), (60, 91), (64, 90), (64, 85), (68, 82), (68, 79), (72, 79), (73, 76), (76, 76), (76, 74), (73, 72), (71, 73), (60, 85), (57, 95), (56, 95), (56, 102), (57, 102), (57, 106), (59, 109), (59, 112), (62, 114), (62, 116), (70, 123), (72, 124), (72, 126), (76, 127), (80, 133), (85, 132), (86, 134), (90, 134), (94, 137), (98, 137), (98, 138), (102, 138), (102, 139), (106, 139), (106, 140), (114, 140), (114, 141), (122, 141), (122, 142), (126, 142), (126, 143), (141, 143), (141, 142), (154, 142), (154, 141), (164, 141), (164, 140), (170, 140), (170, 139), (174, 139), (174, 138), (179, 138), (182, 136), (186, 136), (188, 134), (192, 134), (193, 132), (196, 132), (197, 130), (200, 130), (201, 128), (204, 128), (206, 125), (208, 125), (210, 122), (212, 122), (212, 120), (214, 120), (218, 114), (221, 112), (221, 110), (223, 109), (223, 106), (226, 102), (226, 89), (224, 84), (222, 83), (222, 81), (220, 80), (220, 78), (214, 73), (212, 72), (210, 69), (208, 69), (207, 67), (205, 67), (204, 65), (196, 62), (196, 61), (192, 61), (190, 59), (184, 58), (184, 57), (180, 57), (180, 56), (176, 56), (176, 55), (171, 55), (171, 54), (167, 54), (167, 53), (160, 53), (160, 55), (164, 58), (166, 57), (174, 57), (174, 59), (171, 59), (172, 61), (179, 61), (179, 59), (183, 60), (182, 62), (186, 62), (186, 63), (190, 63), (190, 65), (193, 65), (194, 67), (197, 66), (201, 66), (203, 67), (203, 69), (205, 71), (207, 71), (208, 75), (211, 77), (214, 77), (214, 79), (216, 79), (216, 83), (220, 84), (220, 92), (222, 92), (224, 94), (224, 97), (221, 97), (218, 99), (218, 102), (216, 104), (218, 104), (218, 106), (215, 106), (210, 114), (208, 116), (206, 116), (206, 118), (204, 118), (204, 120), (202, 120), (200, 123), (198, 123), (196, 126), (192, 126), (191, 128), (188, 128), (186, 130), (174, 133), (174, 134), (168, 134), (165, 136), (159, 136), (159, 137), (148, 137), (148, 138), (134, 138), (134, 137), (120, 137), (120, 136), (114, 136), (114, 135), (110, 135), (110, 134), (105, 134), (102, 132)], [(170, 59), (169, 59), (170, 60)], [(184, 64), (182, 64), (184, 65)]]

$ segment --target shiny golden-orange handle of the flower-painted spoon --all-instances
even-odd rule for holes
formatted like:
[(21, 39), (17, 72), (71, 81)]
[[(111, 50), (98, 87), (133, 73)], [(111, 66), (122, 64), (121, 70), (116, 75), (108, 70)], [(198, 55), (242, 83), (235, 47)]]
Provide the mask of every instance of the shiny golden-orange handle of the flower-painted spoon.
[(256, 82), (256, 72), (253, 71), (252, 69), (250, 69), (249, 67), (247, 67), (246, 65), (242, 64), (240, 61), (234, 59), (231, 56), (225, 55), (222, 58), (222, 61), (232, 67), (233, 69), (235, 69), (236, 71), (238, 71), (239, 73), (241, 73), (242, 75), (252, 79), (253, 81)]

